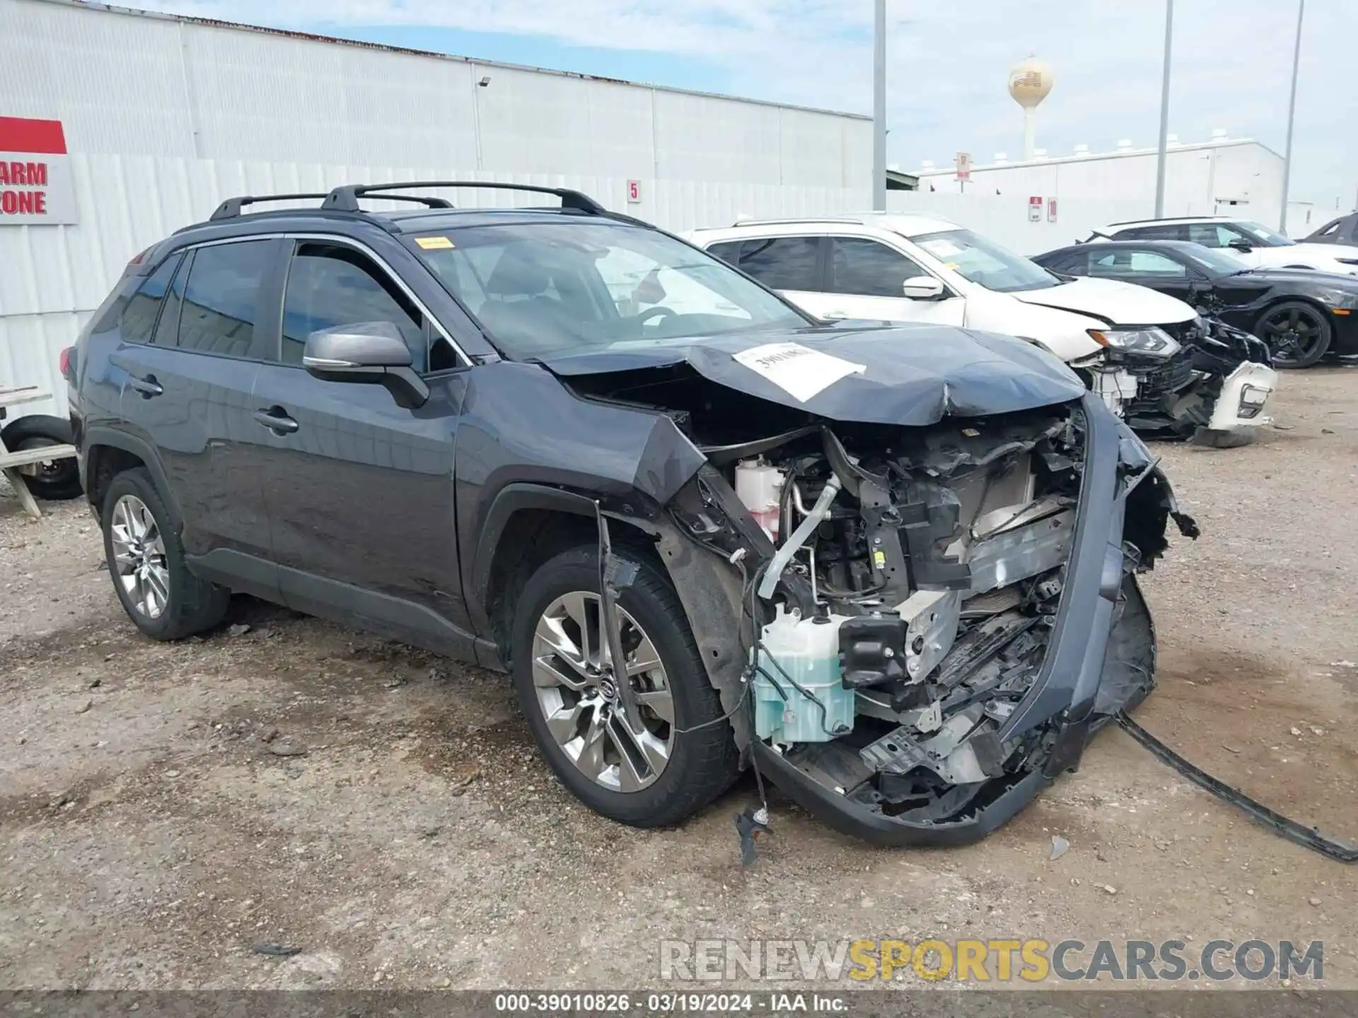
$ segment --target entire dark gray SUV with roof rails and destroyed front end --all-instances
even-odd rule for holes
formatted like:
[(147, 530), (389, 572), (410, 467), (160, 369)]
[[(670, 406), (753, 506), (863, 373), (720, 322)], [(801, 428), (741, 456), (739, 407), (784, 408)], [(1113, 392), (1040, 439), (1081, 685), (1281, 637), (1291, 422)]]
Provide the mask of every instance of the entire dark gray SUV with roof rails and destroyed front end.
[[(553, 205), (428, 197), (467, 187)], [(280, 198), (322, 201), (247, 210)], [(1137, 573), (1195, 535), (1042, 350), (813, 320), (559, 189), (228, 200), (132, 261), (68, 380), (143, 633), (238, 590), (507, 671), (636, 825), (756, 767), (862, 837), (980, 837), (1150, 691)]]

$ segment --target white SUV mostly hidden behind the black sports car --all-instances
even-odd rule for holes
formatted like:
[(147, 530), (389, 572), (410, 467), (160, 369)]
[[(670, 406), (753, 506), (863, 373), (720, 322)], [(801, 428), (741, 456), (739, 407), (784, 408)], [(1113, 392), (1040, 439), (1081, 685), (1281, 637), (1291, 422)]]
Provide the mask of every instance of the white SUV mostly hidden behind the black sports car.
[(1351, 244), (1308, 244), (1252, 220), (1229, 216), (1148, 219), (1114, 223), (1090, 240), (1187, 240), (1233, 254), (1247, 269), (1315, 269), (1323, 273), (1358, 276), (1358, 247)]

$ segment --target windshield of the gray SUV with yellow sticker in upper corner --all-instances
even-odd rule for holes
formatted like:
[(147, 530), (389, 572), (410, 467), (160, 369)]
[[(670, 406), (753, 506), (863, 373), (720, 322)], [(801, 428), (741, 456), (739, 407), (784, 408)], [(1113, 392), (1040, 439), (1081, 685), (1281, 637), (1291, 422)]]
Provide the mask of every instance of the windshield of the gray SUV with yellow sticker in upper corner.
[(725, 262), (617, 221), (451, 227), (411, 250), (516, 360), (809, 322)]

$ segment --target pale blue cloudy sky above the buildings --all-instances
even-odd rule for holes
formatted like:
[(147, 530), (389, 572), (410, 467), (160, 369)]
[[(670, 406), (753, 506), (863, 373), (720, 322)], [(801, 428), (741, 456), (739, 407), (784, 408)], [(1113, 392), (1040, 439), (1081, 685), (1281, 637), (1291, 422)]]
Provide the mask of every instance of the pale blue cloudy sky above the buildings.
[[(144, 0), (133, 5), (636, 81), (869, 113), (870, 0)], [(1169, 130), (1282, 151), (1296, 0), (1179, 0)], [(888, 0), (888, 160), (1021, 149), (1009, 68), (1047, 60), (1038, 144), (1154, 144), (1162, 0)], [(1358, 193), (1358, 0), (1309, 0), (1294, 200)]]

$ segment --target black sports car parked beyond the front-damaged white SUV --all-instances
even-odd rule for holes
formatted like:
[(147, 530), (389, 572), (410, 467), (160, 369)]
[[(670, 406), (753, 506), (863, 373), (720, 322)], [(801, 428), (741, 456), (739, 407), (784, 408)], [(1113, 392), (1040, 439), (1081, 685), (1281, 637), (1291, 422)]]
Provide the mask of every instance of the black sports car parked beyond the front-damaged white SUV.
[(1327, 353), (1358, 354), (1358, 278), (1351, 276), (1248, 269), (1233, 255), (1184, 240), (1100, 240), (1032, 261), (1179, 297), (1262, 338), (1279, 368), (1309, 368)]

